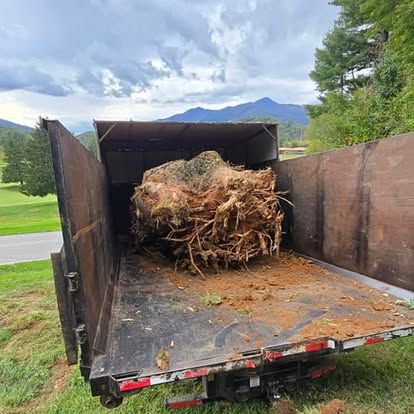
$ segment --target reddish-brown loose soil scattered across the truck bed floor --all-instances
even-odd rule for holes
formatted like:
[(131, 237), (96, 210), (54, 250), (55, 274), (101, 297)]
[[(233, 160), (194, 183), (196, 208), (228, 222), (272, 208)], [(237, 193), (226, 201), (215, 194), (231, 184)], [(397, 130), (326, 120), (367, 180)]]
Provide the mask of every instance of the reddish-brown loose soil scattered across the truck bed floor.
[[(330, 337), (338, 340), (414, 324), (414, 311), (396, 298), (328, 271), (310, 260), (282, 252), (279, 260), (261, 258), (246, 269), (206, 274), (206, 279), (175, 271), (170, 262), (139, 256), (141, 270), (169, 278), (194, 297), (218, 295), (226, 307), (272, 325), (280, 332), (294, 328), (294, 341)], [(310, 313), (317, 315), (310, 317)], [(274, 324), (274, 323), (273, 323)], [(298, 325), (299, 326), (299, 325)]]

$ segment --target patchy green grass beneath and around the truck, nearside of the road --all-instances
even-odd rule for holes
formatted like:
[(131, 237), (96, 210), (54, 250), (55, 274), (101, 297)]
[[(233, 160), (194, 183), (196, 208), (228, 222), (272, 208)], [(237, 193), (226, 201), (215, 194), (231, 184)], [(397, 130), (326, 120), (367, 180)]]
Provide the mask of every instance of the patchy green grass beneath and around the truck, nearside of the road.
[[(288, 396), (297, 413), (317, 414), (334, 398), (348, 413), (412, 413), (414, 338), (336, 357), (337, 370)], [(115, 413), (166, 413), (163, 399), (194, 391), (193, 382), (146, 389)], [(411, 408), (410, 408), (411, 407)], [(77, 367), (67, 367), (50, 262), (0, 266), (0, 413), (108, 413)], [(264, 402), (212, 403), (183, 413), (275, 413)]]

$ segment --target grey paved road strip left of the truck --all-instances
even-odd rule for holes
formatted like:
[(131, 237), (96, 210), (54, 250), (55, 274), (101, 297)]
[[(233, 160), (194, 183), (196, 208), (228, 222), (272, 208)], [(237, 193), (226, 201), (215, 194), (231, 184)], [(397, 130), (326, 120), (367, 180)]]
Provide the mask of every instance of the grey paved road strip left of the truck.
[(18, 234), (0, 237), (0, 264), (48, 259), (62, 246), (62, 233)]

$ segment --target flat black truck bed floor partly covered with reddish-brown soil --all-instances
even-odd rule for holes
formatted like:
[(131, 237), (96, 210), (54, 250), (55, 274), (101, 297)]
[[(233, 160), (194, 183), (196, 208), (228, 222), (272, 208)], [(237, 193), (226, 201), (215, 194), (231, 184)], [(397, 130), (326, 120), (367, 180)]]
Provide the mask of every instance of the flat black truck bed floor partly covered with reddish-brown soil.
[[(208, 304), (207, 295), (221, 303)], [(171, 262), (128, 251), (121, 258), (107, 353), (95, 357), (91, 377), (159, 374), (162, 348), (169, 351), (166, 371), (175, 371), (263, 347), (413, 325), (414, 310), (397, 298), (291, 253), (202, 280), (176, 272)]]

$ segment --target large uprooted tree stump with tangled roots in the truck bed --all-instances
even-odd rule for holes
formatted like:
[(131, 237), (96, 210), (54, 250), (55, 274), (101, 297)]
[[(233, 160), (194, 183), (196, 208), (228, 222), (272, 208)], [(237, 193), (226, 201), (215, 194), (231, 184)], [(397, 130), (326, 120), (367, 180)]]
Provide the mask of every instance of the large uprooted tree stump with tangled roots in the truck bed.
[(156, 246), (177, 265), (203, 268), (246, 265), (279, 254), (283, 213), (276, 177), (231, 167), (215, 151), (147, 170), (132, 197), (132, 233), (138, 247)]

